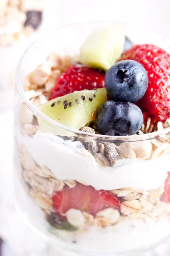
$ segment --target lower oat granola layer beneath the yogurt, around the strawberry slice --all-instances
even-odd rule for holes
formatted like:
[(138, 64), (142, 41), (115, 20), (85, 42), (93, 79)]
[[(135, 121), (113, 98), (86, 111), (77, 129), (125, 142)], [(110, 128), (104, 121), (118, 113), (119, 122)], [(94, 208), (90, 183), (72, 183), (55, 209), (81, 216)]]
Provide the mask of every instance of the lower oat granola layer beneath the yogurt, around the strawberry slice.
[[(65, 185), (71, 189), (74, 188), (77, 182), (58, 180), (46, 166), (39, 166), (34, 161), (25, 146), (20, 148), (20, 160), (23, 166), (22, 178), (28, 194), (45, 213), (52, 214), (52, 195), (57, 191), (62, 191)], [(104, 228), (122, 221), (122, 216), (146, 221), (148, 218), (159, 218), (164, 212), (164, 202), (160, 201), (164, 185), (147, 192), (132, 188), (115, 189), (111, 192), (120, 198), (120, 212), (117, 209), (107, 208), (99, 211), (94, 218), (88, 212), (70, 209), (66, 212), (68, 222), (80, 230), (91, 225)]]

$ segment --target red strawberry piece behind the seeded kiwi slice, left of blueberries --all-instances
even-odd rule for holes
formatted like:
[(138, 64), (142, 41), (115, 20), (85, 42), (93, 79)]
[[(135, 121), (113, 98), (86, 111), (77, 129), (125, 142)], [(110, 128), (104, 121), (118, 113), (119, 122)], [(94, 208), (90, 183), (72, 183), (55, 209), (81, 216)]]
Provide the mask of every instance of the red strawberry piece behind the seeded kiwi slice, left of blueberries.
[(104, 79), (105, 73), (99, 70), (81, 64), (74, 65), (69, 67), (65, 73), (62, 73), (49, 99), (73, 93), (74, 91), (105, 87)]

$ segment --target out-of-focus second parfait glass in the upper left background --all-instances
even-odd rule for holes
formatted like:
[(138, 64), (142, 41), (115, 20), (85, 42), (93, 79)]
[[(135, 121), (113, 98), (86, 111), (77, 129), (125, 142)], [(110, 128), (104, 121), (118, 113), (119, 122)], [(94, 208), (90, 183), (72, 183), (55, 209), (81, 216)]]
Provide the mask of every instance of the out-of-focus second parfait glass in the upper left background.
[(13, 102), (15, 69), (42, 22), (43, 0), (0, 0), (0, 109)]

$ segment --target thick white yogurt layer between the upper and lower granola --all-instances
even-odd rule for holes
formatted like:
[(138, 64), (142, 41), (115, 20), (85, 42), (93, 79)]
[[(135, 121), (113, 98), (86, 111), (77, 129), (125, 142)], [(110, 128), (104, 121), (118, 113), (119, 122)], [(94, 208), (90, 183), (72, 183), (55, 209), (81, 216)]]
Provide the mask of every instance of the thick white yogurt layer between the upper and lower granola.
[(95, 189), (131, 187), (144, 191), (156, 189), (167, 178), (166, 157), (154, 160), (123, 159), (113, 167), (102, 167), (80, 142), (64, 141), (51, 134), (38, 131), (33, 138), (23, 136), (16, 129), (19, 145), (25, 145), (35, 162), (48, 167), (59, 180), (77, 180)]

